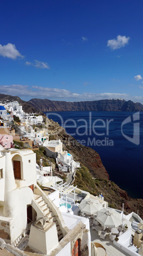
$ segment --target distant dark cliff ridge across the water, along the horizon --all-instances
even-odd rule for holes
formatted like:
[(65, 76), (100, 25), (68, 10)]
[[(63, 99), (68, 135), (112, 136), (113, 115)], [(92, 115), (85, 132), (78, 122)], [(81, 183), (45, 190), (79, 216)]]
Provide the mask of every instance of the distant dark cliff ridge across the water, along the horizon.
[(143, 111), (143, 105), (121, 99), (103, 99), (101, 101), (50, 101), (49, 99), (30, 99), (39, 111)]

